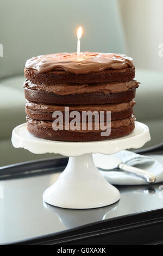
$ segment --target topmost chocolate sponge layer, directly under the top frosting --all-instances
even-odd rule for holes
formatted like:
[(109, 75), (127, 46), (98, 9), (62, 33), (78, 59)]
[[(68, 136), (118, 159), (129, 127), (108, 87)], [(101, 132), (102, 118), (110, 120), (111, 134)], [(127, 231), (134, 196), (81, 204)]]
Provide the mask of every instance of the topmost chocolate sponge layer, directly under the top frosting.
[(61, 83), (107, 83), (107, 82), (128, 82), (135, 77), (135, 68), (121, 70), (104, 70), (97, 73), (75, 75), (65, 71), (50, 71), (40, 73), (34, 69), (24, 69), (27, 79), (33, 83), (61, 84)]

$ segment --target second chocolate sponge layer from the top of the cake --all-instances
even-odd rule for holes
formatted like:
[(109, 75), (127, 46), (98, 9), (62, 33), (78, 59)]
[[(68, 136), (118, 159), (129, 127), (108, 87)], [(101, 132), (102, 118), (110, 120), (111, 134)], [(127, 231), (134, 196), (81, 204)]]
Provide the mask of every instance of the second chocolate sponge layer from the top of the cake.
[(49, 105), (97, 105), (131, 101), (135, 97), (136, 89), (129, 89), (121, 93), (82, 93), (74, 95), (57, 95), (24, 88), (27, 100)]

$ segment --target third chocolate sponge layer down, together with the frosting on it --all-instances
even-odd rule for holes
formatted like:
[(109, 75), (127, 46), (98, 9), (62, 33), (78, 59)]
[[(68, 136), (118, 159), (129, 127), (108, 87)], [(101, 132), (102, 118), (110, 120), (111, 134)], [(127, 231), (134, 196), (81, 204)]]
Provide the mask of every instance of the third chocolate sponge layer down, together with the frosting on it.
[[(56, 106), (56, 105), (42, 105), (38, 103), (33, 103), (30, 101), (26, 102), (26, 114), (35, 120), (49, 120), (53, 121), (55, 118), (52, 117), (54, 111), (62, 112), (63, 118), (65, 119), (65, 111), (68, 112), (68, 115), (72, 111), (78, 111), (80, 114), (80, 119), (82, 119), (82, 111), (88, 112), (100, 112), (101, 116), (104, 117), (106, 121), (106, 112), (111, 111), (111, 120), (117, 120), (122, 118), (127, 118), (131, 114), (133, 114), (133, 106), (135, 105), (135, 101), (123, 102), (115, 105), (80, 105), (80, 106), (70, 106), (65, 108), (64, 106)], [(99, 113), (99, 114), (100, 114)], [(73, 118), (70, 118), (72, 120)]]

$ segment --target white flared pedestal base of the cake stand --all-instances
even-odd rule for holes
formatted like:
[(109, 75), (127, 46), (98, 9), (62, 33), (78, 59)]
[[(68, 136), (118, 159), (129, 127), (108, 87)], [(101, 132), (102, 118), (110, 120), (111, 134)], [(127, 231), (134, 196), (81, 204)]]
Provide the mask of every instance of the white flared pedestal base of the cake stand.
[(114, 204), (120, 192), (97, 170), (92, 154), (69, 157), (57, 182), (43, 193), (43, 200), (61, 208), (89, 209)]

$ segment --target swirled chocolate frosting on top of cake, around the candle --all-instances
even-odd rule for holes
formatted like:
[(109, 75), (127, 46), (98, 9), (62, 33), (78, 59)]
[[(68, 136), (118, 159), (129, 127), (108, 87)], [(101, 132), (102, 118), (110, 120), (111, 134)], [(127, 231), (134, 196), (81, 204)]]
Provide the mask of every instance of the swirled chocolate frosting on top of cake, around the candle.
[(34, 69), (40, 73), (62, 70), (76, 75), (133, 66), (133, 59), (125, 54), (99, 52), (81, 52), (79, 57), (77, 53), (53, 53), (33, 57), (26, 62), (27, 69)]

